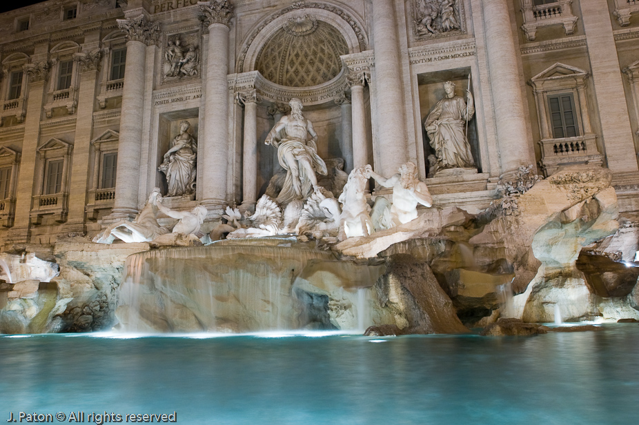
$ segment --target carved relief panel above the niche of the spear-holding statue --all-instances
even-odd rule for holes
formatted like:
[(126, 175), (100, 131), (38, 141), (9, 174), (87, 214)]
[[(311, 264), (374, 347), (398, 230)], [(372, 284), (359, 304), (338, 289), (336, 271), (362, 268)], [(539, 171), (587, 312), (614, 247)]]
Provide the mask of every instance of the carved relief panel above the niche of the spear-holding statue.
[(415, 28), (419, 35), (440, 34), (460, 30), (458, 5), (455, 0), (416, 0)]

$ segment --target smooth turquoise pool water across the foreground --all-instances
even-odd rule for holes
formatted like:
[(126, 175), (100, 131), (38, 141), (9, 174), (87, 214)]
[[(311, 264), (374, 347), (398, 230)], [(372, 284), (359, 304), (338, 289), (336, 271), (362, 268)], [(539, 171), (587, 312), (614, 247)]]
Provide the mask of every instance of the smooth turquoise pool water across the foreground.
[(4, 335), (0, 422), (636, 424), (638, 354), (637, 324), (505, 338)]

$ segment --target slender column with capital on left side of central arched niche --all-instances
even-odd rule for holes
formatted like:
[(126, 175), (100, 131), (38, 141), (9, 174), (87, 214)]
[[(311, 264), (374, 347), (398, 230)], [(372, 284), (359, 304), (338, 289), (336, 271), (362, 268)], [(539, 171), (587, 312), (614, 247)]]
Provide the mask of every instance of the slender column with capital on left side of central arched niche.
[(237, 93), (244, 104), (242, 139), (242, 207), (252, 209), (257, 201), (257, 91)]

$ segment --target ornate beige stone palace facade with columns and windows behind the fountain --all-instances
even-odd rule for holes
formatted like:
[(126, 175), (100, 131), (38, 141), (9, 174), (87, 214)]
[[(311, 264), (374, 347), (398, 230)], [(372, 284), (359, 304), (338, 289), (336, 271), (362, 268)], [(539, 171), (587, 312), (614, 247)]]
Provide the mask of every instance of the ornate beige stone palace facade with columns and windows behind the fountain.
[[(413, 161), (435, 207), (583, 164), (639, 211), (636, 1), (50, 0), (0, 21), (2, 246), (95, 235), (155, 187), (208, 228), (252, 208), (292, 98), (319, 157)], [(472, 161), (440, 170), (424, 124), (447, 96), (474, 99), (455, 130)]]

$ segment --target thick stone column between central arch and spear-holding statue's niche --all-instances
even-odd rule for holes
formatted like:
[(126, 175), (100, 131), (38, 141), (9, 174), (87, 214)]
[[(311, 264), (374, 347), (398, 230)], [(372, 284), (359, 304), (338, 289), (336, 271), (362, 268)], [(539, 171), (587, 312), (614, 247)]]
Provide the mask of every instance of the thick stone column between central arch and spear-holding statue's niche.
[(371, 3), (375, 49), (374, 83), (377, 92), (375, 121), (379, 144), (375, 146), (375, 162), (380, 168), (375, 171), (381, 175), (393, 175), (408, 159), (396, 0), (373, 0)]

